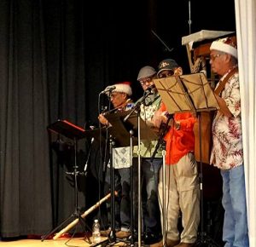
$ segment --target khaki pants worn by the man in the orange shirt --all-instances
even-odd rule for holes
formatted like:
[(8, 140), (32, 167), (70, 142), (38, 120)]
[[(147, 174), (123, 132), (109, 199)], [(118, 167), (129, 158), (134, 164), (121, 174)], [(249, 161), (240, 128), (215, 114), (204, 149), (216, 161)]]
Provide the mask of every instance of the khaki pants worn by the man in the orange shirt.
[[(160, 169), (159, 194), (162, 209), (163, 179)], [(195, 243), (200, 222), (200, 183), (194, 155), (188, 153), (177, 164), (166, 165), (166, 238)], [(182, 215), (183, 231), (177, 222)], [(162, 215), (162, 211), (161, 211)], [(162, 217), (161, 217), (162, 221)], [(180, 236), (179, 236), (180, 235)]]

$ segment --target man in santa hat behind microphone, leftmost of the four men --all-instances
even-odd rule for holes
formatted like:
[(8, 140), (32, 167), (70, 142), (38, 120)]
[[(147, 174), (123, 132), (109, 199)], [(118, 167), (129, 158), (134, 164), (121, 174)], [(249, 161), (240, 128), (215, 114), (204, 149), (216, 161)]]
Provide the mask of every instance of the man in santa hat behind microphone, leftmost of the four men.
[[(113, 105), (112, 112), (125, 112), (133, 108), (130, 82), (115, 83), (109, 89), (112, 89), (107, 92)], [(111, 125), (103, 113), (99, 115), (98, 119), (101, 124)], [(131, 235), (130, 167), (130, 146), (113, 148), (114, 189), (118, 192), (115, 200), (115, 229), (103, 231), (103, 234), (105, 232), (108, 235), (110, 230), (115, 230), (117, 238), (127, 238)], [(106, 192), (109, 192), (110, 189), (110, 172), (110, 164), (108, 163), (105, 177)], [(110, 221), (110, 204), (107, 207), (108, 221)]]

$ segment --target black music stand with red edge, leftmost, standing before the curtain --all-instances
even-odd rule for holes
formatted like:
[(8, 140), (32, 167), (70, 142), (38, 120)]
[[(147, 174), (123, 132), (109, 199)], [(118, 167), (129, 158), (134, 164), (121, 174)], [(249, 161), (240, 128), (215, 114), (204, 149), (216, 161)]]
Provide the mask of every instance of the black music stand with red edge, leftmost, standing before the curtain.
[[(54, 124), (50, 124), (47, 129), (51, 132), (54, 132), (59, 135), (64, 135), (69, 139), (73, 140), (74, 145), (74, 164), (73, 164), (73, 172), (67, 172), (67, 174), (74, 176), (74, 197), (75, 197), (75, 210), (73, 214), (71, 214), (66, 220), (61, 222), (61, 224), (57, 227), (55, 227), (52, 231), (47, 233), (46, 235), (42, 236), (41, 240), (44, 241), (44, 239), (49, 238), (49, 236), (57, 229), (62, 227), (64, 224), (67, 223), (67, 221), (70, 221), (71, 219), (79, 219), (79, 222), (81, 226), (84, 228), (84, 232), (86, 232), (85, 227), (88, 227), (84, 221), (84, 218), (81, 217), (81, 214), (79, 212), (79, 200), (78, 200), (78, 164), (77, 164), (77, 142), (79, 139), (82, 139), (85, 137), (85, 130), (80, 128), (79, 126), (72, 124), (68, 122), (67, 120), (58, 120)], [(88, 229), (90, 229), (88, 227)], [(88, 239), (88, 243), (91, 244), (90, 238), (86, 234), (86, 238)]]

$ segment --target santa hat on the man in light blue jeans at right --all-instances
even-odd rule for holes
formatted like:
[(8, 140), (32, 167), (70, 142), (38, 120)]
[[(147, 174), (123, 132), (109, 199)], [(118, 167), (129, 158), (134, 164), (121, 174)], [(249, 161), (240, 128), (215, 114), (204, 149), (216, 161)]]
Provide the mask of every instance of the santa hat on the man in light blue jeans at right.
[(213, 41), (210, 50), (212, 49), (230, 54), (237, 58), (236, 40), (231, 37), (224, 37)]

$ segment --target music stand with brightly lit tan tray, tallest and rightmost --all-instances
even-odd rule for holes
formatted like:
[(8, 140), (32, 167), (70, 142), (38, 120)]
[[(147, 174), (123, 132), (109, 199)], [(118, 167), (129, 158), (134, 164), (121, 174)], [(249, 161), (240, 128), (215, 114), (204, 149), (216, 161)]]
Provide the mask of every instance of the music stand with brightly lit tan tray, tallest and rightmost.
[[(202, 175), (202, 146), (201, 146), (201, 112), (211, 112), (219, 109), (218, 101), (212, 91), (204, 73), (154, 79), (155, 87), (166, 104), (170, 114), (176, 112), (194, 112), (198, 116), (200, 133), (200, 187), (201, 187), (201, 236), (195, 246), (207, 244), (218, 246), (215, 241), (204, 232), (203, 216), (203, 175)], [(166, 226), (163, 226), (166, 227)]]

